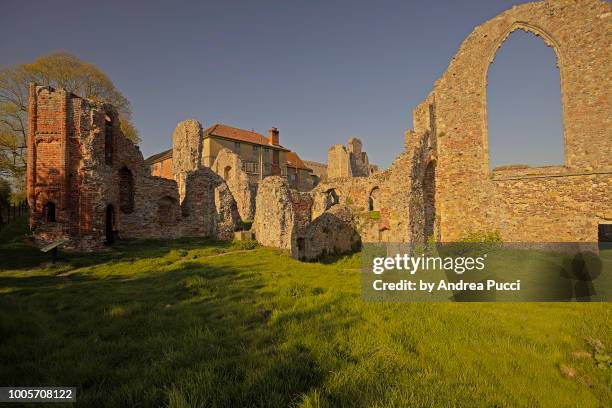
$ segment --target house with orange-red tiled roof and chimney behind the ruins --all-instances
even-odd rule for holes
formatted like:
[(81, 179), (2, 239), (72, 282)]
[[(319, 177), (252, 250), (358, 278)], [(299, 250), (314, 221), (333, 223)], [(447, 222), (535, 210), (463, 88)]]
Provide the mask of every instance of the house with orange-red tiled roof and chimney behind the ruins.
[[(276, 128), (270, 129), (265, 137), (253, 130), (217, 123), (203, 130), (202, 139), (202, 163), (207, 167), (212, 166), (222, 149), (229, 149), (240, 157), (242, 170), (252, 181), (278, 175), (287, 177), (294, 188), (312, 188), (312, 171), (295, 152), (280, 144)], [(172, 149), (155, 154), (146, 162), (152, 175), (172, 178)]]

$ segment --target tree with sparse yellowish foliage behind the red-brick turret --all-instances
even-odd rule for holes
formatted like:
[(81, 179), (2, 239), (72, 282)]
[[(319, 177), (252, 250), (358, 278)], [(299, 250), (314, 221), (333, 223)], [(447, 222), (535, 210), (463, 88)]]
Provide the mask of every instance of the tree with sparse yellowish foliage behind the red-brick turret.
[(0, 176), (24, 184), (27, 140), (28, 85), (63, 88), (76, 95), (112, 103), (119, 112), (125, 136), (140, 141), (130, 122), (129, 101), (95, 65), (57, 52), (39, 57), (31, 64), (0, 70)]

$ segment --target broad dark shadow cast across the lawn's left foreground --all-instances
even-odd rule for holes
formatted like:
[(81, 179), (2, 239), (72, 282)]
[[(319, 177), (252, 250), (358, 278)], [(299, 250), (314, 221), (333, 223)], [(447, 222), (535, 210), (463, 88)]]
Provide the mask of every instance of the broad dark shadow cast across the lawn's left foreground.
[[(185, 242), (172, 244), (128, 244), (126, 256)], [(262, 287), (197, 261), (128, 279), (0, 278), (13, 290), (0, 293), (0, 383), (76, 386), (82, 406), (287, 406), (323, 374), (307, 348), (277, 348)]]

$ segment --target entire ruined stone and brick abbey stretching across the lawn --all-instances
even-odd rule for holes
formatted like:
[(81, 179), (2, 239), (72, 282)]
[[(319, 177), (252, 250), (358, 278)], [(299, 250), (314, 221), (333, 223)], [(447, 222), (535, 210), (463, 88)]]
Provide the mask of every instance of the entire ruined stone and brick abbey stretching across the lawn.
[[(541, 37), (557, 55), (563, 165), (489, 169), (487, 72), (515, 30)], [(316, 185), (274, 167), (292, 162), (296, 174), (312, 173), (299, 157), (283, 158), (290, 151), (277, 130), (260, 143), (277, 152), (263, 177), (263, 165), (245, 171), (231, 149), (204, 154), (205, 132), (193, 120), (177, 126), (171, 155), (160, 156), (171, 157), (171, 168), (152, 174), (155, 163), (123, 137), (111, 105), (31, 85), (34, 237), (66, 238), (78, 249), (118, 238), (231, 239), (252, 221), (259, 243), (303, 260), (362, 242), (450, 242), (476, 232), (497, 231), (507, 242), (597, 242), (612, 224), (610, 32), (611, 7), (601, 0), (540, 1), (501, 13), (463, 41), (414, 109), (405, 150), (387, 170), (377, 172), (351, 139), (330, 148)]]

